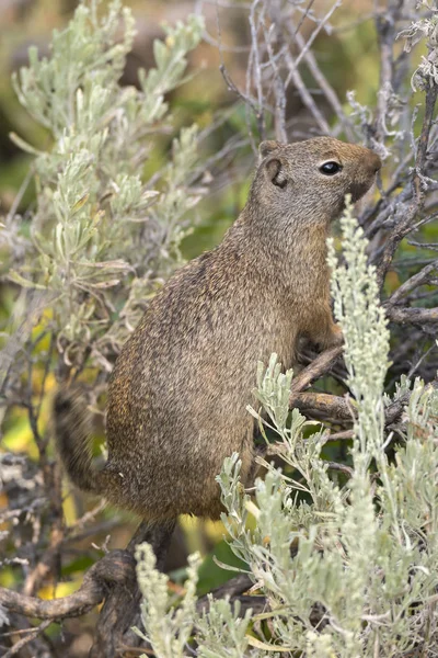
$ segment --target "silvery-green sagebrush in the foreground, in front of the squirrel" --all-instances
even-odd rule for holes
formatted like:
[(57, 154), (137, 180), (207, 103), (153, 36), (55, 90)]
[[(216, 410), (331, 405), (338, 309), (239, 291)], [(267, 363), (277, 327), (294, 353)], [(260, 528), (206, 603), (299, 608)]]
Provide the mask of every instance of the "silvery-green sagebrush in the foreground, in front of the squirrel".
[[(304, 440), (308, 422), (298, 410), (288, 413), (292, 373), (281, 373), (273, 355), (257, 375), (255, 397), (263, 417), (250, 412), (277, 432), (277, 452), (292, 475), (263, 461), (267, 473), (256, 480), (253, 499), (240, 484), (237, 454), (218, 476), (230, 546), (249, 565), (253, 589), (266, 597), (270, 612), (238, 620), (228, 601), (210, 601), (208, 614), (192, 619), (199, 656), (262, 657), (277, 650), (371, 658), (405, 656), (414, 648), (425, 657), (435, 655), (438, 392), (415, 381), (405, 435), (390, 464), (383, 440), (389, 332), (376, 273), (367, 264), (367, 241), (351, 212), (347, 203), (344, 264), (337, 264), (333, 243), (328, 256), (348, 384), (356, 397), (349, 480), (341, 487), (330, 477), (321, 457), (324, 431)], [(404, 379), (394, 397), (407, 386)], [(152, 594), (146, 597), (153, 605)], [(192, 599), (191, 605), (194, 610)], [(165, 654), (153, 642), (151, 619), (145, 620), (147, 636), (161, 657)]]

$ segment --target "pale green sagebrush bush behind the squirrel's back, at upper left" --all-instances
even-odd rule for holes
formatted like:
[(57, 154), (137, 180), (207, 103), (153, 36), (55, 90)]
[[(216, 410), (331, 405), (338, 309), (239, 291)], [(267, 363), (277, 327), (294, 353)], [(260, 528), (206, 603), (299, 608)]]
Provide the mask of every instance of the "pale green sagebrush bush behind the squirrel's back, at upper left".
[(50, 56), (38, 59), (31, 48), (30, 66), (14, 76), (21, 103), (53, 141), (42, 152), (14, 137), (35, 156), (36, 208), (25, 222), (5, 218), (0, 253), (11, 281), (45, 291), (66, 362), (80, 364), (92, 345), (94, 363), (110, 370), (148, 296), (181, 262), (187, 211), (203, 193), (191, 186), (196, 126), (175, 136), (153, 183), (141, 177), (154, 135), (172, 129), (164, 94), (182, 82), (203, 23), (189, 16), (165, 27), (165, 42), (154, 44), (157, 68), (141, 71), (140, 89), (123, 88), (134, 19), (120, 0), (102, 16), (99, 4), (81, 2), (54, 32)]

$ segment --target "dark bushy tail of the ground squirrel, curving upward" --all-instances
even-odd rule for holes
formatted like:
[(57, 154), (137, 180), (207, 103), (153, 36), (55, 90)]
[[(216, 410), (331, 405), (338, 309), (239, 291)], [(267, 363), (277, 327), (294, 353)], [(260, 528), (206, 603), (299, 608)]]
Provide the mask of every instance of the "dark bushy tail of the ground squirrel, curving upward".
[(53, 419), (56, 445), (67, 475), (83, 491), (106, 496), (119, 487), (116, 474), (92, 465), (91, 419), (79, 388), (61, 387), (55, 395)]

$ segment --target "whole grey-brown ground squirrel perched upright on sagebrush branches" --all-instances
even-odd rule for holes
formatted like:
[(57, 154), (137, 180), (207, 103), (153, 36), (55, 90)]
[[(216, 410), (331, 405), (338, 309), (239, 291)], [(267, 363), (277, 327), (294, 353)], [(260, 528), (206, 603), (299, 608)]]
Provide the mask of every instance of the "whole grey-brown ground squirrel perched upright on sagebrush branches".
[(246, 411), (256, 364), (284, 367), (307, 337), (341, 342), (330, 307), (326, 238), (347, 193), (381, 167), (367, 148), (331, 137), (264, 141), (245, 207), (212, 251), (184, 265), (149, 304), (122, 350), (108, 389), (103, 469), (92, 466), (84, 400), (61, 389), (55, 431), (81, 489), (152, 523), (191, 513), (217, 519), (215, 476), (233, 452), (245, 484), (254, 419)]

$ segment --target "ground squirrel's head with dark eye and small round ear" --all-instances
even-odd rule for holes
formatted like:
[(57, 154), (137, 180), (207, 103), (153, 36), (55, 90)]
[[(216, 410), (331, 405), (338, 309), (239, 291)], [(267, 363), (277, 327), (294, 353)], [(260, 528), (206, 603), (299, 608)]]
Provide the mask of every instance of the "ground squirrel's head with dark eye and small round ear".
[(333, 137), (295, 144), (263, 141), (251, 197), (269, 215), (309, 223), (335, 219), (346, 194), (358, 201), (381, 168), (377, 154)]

